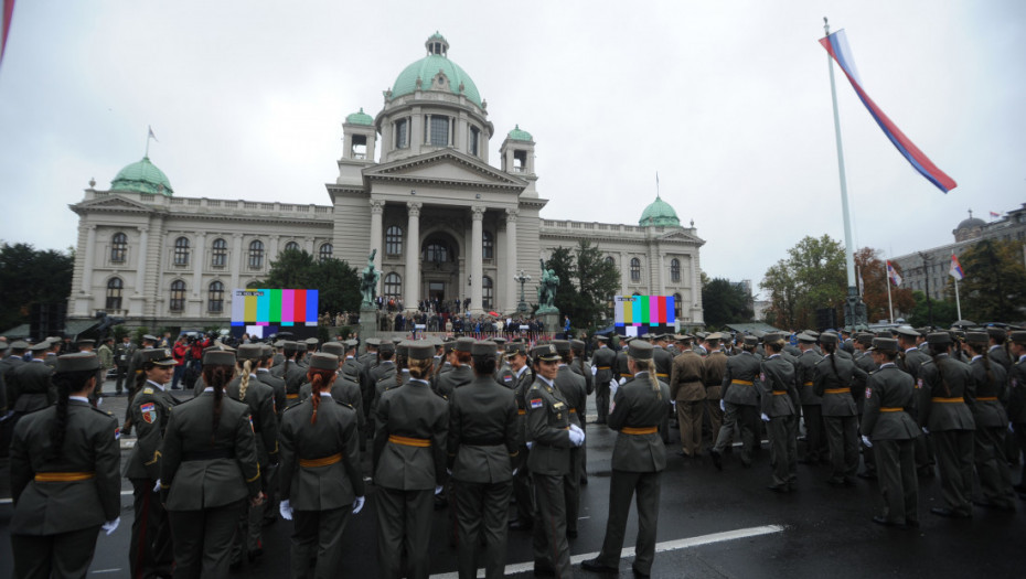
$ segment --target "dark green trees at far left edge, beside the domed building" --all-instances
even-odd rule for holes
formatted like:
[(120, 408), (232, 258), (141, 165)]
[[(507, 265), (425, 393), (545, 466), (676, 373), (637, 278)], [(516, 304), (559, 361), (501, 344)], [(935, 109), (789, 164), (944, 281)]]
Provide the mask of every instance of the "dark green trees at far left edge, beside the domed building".
[(35, 303), (67, 302), (75, 256), (29, 244), (0, 247), (0, 331), (25, 323)]

